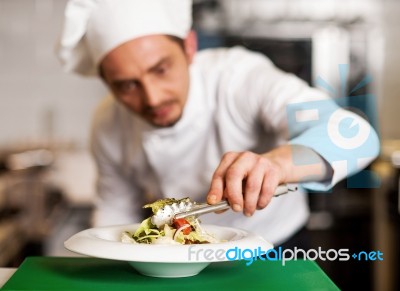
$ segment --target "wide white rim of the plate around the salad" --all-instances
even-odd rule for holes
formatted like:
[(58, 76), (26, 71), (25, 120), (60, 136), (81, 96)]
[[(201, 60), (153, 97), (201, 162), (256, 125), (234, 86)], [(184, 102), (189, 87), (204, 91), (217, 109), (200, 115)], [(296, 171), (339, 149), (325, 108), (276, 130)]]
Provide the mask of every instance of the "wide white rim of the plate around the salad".
[[(121, 241), (112, 241), (101, 239), (96, 234), (107, 231), (120, 231), (124, 228), (137, 228), (140, 223), (121, 224), (112, 226), (93, 227), (82, 230), (64, 242), (64, 247), (69, 251), (89, 257), (97, 257), (103, 259), (113, 259), (119, 261), (130, 262), (146, 262), (146, 263), (212, 263), (229, 261), (228, 258), (205, 258), (205, 256), (197, 256), (192, 260), (189, 256), (189, 251), (193, 248), (209, 249), (211, 252), (217, 250), (228, 251), (235, 247), (257, 248), (264, 247), (263, 250), (273, 248), (273, 244), (265, 240), (259, 235), (252, 232), (234, 228), (230, 226), (219, 226), (212, 224), (202, 224), (206, 230), (225, 230), (235, 232), (236, 235), (241, 235), (237, 240), (210, 243), (210, 244), (191, 244), (191, 245), (168, 245), (168, 244), (130, 244)], [(147, 255), (149, 254), (149, 255)], [(175, 254), (175, 256), (174, 256)], [(185, 258), (185, 255), (187, 256)]]

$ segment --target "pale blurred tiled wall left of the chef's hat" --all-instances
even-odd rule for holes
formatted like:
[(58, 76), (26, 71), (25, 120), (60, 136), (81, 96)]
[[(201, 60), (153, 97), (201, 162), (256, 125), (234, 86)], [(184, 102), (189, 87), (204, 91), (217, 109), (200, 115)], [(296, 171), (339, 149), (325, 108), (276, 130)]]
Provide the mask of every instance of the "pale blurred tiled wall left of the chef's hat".
[(85, 147), (103, 84), (62, 71), (66, 0), (0, 0), (0, 147), (55, 138)]

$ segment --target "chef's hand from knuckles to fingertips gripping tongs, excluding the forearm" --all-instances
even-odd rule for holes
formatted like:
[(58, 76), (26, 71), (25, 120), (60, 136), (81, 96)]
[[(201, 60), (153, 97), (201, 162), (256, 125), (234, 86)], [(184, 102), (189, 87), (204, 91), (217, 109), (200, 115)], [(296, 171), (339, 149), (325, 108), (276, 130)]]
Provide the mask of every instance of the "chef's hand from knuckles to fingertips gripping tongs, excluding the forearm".
[(225, 198), (234, 211), (251, 216), (268, 205), (284, 181), (284, 171), (273, 159), (252, 152), (228, 152), (214, 172), (207, 202)]

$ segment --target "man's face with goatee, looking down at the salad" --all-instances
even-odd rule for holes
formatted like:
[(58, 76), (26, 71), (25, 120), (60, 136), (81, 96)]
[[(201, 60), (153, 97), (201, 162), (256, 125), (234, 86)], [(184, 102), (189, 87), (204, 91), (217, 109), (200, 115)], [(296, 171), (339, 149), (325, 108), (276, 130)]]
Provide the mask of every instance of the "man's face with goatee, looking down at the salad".
[(149, 123), (167, 127), (182, 115), (193, 54), (168, 36), (144, 36), (112, 50), (100, 66), (119, 102)]

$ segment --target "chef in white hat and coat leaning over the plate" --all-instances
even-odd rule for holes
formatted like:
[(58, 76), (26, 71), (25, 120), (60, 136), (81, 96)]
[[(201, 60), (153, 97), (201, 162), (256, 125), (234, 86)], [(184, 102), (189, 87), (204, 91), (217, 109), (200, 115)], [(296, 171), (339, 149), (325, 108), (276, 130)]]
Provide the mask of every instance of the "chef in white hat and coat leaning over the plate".
[[(98, 77), (110, 91), (91, 133), (94, 225), (140, 222), (142, 206), (163, 197), (227, 199), (231, 210), (202, 221), (281, 244), (308, 219), (301, 189), (329, 190), (367, 166), (379, 150), (377, 135), (264, 55), (242, 47), (197, 52), (191, 6), (189, 0), (66, 6), (57, 44), (63, 68)], [(309, 109), (313, 102), (321, 105)], [(292, 106), (295, 122), (288, 117)], [(331, 146), (329, 131), (346, 118), (368, 136), (357, 165), (346, 163), (354, 151)], [(284, 183), (302, 187), (273, 198)]]

